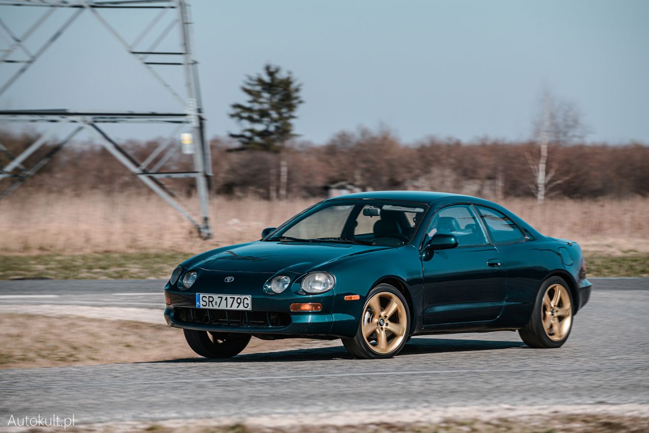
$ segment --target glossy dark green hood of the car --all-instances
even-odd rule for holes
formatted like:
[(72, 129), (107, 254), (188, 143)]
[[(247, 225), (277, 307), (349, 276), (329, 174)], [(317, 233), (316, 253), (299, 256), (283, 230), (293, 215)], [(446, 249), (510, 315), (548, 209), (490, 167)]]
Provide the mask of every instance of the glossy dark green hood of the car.
[(295, 272), (347, 261), (393, 247), (347, 243), (252, 242), (219, 248), (200, 254), (183, 263), (184, 267), (228, 272)]

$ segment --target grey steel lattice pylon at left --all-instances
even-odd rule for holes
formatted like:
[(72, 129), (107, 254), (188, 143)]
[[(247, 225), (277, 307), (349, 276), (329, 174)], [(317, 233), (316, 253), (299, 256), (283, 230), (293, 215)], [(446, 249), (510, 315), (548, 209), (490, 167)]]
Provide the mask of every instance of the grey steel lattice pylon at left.
[[(182, 112), (132, 112), (132, 111), (87, 111), (70, 112), (66, 110), (20, 110), (0, 111), (0, 120), (9, 122), (32, 122), (53, 124), (38, 140), (32, 143), (19, 155), (15, 156), (0, 144), (0, 153), (9, 159), (9, 163), (0, 170), (0, 180), (13, 177), (14, 183), (5, 190), (0, 191), (0, 199), (10, 194), (24, 183), (29, 177), (34, 176), (43, 165), (50, 161), (63, 146), (82, 130), (90, 131), (97, 137), (102, 146), (111, 155), (125, 165), (140, 181), (145, 183), (156, 194), (162, 197), (183, 217), (191, 222), (204, 239), (211, 237), (210, 217), (208, 198), (212, 187), (212, 160), (210, 147), (205, 137), (205, 120), (202, 109), (202, 101), (199, 87), (197, 61), (194, 57), (193, 42), (191, 35), (191, 16), (187, 0), (0, 0), (0, 7), (35, 7), (44, 8), (34, 23), (27, 27), (22, 34), (11, 29), (10, 23), (0, 20), (0, 36), (5, 38), (8, 47), (0, 49), (0, 66), (8, 63), (21, 64), (16, 72), (5, 81), (0, 80), (0, 96), (2, 96), (29, 68), (51, 47), (64, 31), (66, 31), (77, 18), (86, 12), (97, 20), (101, 27), (110, 33), (125, 51), (140, 64), (149, 75), (165, 90), (175, 101), (177, 101)], [(129, 42), (117, 29), (104, 18), (103, 9), (154, 9), (153, 17), (146, 21), (140, 34)], [(66, 16), (65, 20), (56, 27), (56, 30), (49, 38), (33, 51), (25, 44), (45, 21), (49, 20), (55, 12), (69, 9), (72, 13)], [(171, 15), (171, 16), (170, 16)], [(169, 20), (164, 25), (163, 20)], [(156, 29), (162, 31), (154, 34)], [(180, 42), (179, 50), (160, 50), (158, 47), (169, 36), (173, 29), (178, 29)], [(144, 45), (145, 40), (151, 40)], [(17, 53), (23, 57), (16, 57)], [(173, 57), (175, 60), (167, 61), (159, 56)], [(160, 75), (156, 68), (168, 66), (181, 66), (184, 76), (184, 92), (182, 87), (171, 85)], [(184, 94), (182, 94), (184, 93)], [(181, 96), (182, 95), (182, 96)], [(75, 129), (60, 141), (54, 139), (60, 127), (65, 124), (76, 124)], [(116, 140), (111, 138), (101, 124), (177, 124), (172, 135), (148, 155), (144, 161), (138, 161)], [(160, 171), (161, 168), (173, 157), (178, 150), (178, 133), (184, 129), (191, 131), (195, 142), (193, 152), (193, 170), (187, 172)], [(56, 144), (34, 163), (31, 168), (23, 164), (29, 157), (45, 143), (56, 142)], [(176, 144), (176, 145), (174, 145)], [(153, 167), (149, 168), (153, 164)], [(193, 177), (196, 182), (196, 189), (199, 196), (200, 221), (191, 216), (176, 200), (175, 194), (160, 179)]]

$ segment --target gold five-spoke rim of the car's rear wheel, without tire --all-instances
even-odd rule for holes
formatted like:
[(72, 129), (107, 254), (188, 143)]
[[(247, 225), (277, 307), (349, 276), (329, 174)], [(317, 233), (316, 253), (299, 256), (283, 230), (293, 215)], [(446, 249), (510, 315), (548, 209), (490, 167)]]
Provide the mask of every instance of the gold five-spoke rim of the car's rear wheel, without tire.
[(568, 289), (561, 284), (552, 284), (543, 296), (541, 320), (545, 334), (552, 341), (561, 341), (570, 331), (572, 304)]

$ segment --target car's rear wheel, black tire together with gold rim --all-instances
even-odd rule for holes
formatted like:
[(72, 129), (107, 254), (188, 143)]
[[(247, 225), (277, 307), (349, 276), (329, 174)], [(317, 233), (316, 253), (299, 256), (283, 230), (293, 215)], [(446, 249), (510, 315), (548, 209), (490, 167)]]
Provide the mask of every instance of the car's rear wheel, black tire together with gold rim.
[(563, 346), (572, 330), (574, 302), (572, 293), (563, 278), (545, 280), (536, 296), (532, 317), (519, 335), (532, 348), (557, 348)]

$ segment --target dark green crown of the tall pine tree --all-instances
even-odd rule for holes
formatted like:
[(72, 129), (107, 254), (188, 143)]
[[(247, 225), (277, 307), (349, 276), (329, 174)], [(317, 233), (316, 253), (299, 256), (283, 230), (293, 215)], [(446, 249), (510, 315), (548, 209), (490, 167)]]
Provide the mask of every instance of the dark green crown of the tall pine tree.
[(267, 64), (265, 75), (248, 76), (241, 90), (249, 97), (245, 104), (232, 104), (230, 117), (243, 129), (230, 133), (241, 143), (241, 150), (280, 152), (293, 133), (295, 110), (303, 101), (302, 85), (290, 72), (282, 75), (279, 66)]

